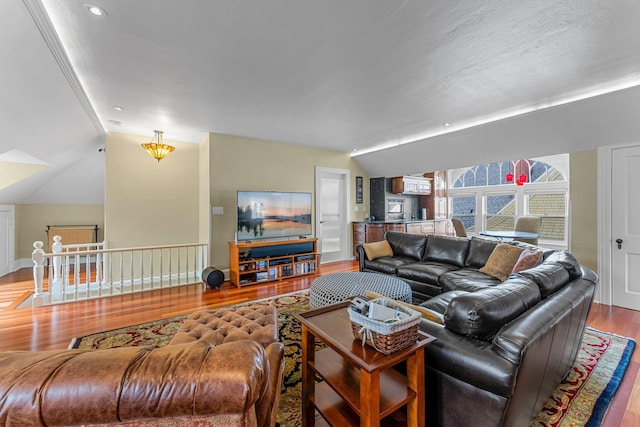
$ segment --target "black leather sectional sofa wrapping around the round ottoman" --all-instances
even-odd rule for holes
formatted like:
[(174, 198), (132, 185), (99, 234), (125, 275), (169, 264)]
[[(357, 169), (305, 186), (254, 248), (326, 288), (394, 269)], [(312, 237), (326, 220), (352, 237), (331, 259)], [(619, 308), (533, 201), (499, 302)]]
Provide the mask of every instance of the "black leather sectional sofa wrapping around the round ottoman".
[(402, 278), (442, 319), (420, 325), (437, 338), (425, 348), (426, 425), (527, 426), (576, 359), (597, 276), (567, 252), (537, 248), (539, 265), (500, 281), (480, 271), (495, 241), (386, 239), (392, 256), (356, 248), (360, 270)]

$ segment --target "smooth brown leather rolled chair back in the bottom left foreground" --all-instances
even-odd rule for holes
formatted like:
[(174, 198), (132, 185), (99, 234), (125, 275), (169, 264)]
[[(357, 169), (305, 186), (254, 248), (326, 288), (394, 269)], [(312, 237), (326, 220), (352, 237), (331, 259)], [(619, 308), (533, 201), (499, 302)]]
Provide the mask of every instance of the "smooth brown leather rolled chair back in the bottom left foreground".
[(273, 426), (284, 347), (0, 352), (0, 425)]

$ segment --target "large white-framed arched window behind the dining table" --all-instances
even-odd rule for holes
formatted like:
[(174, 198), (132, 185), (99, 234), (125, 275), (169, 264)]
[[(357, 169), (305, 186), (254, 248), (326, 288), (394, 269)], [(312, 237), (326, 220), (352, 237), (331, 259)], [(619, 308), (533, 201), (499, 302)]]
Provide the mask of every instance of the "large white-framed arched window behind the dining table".
[(540, 216), (543, 243), (566, 247), (568, 165), (569, 155), (563, 154), (450, 170), (451, 217), (477, 234), (512, 230), (517, 217)]

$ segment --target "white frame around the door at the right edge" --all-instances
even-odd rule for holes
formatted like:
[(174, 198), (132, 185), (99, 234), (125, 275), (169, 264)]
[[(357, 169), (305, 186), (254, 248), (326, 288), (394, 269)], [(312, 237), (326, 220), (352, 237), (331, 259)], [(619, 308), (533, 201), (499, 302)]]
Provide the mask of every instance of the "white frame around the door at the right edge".
[(595, 301), (611, 305), (613, 301), (613, 261), (612, 245), (612, 170), (611, 159), (613, 150), (619, 148), (637, 147), (640, 142), (611, 145), (598, 148), (598, 276), (600, 282), (596, 288)]

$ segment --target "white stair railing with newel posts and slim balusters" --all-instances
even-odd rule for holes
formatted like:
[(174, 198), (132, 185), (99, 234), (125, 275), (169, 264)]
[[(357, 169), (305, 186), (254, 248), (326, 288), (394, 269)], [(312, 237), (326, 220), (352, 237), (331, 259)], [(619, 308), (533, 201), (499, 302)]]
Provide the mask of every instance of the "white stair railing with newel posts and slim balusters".
[(62, 245), (56, 237), (52, 253), (33, 244), (33, 306), (198, 283), (208, 259), (204, 243), (107, 249), (105, 242)]

